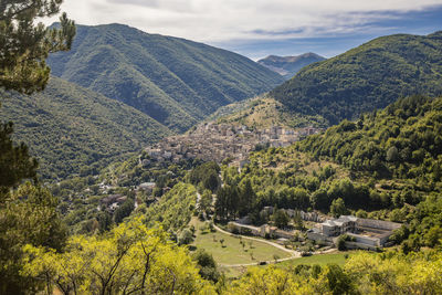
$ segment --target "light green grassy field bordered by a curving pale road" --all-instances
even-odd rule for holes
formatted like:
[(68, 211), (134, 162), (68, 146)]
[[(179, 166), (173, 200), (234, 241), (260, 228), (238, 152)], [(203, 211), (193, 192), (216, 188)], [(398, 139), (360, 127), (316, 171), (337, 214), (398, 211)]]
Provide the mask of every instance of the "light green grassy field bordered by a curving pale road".
[[(274, 260), (274, 255), (281, 259), (290, 256), (290, 253), (257, 241), (242, 239), (244, 242), (244, 246), (242, 246), (240, 243), (241, 239), (239, 238), (221, 232), (204, 231), (202, 233), (199, 229), (203, 225), (203, 222), (197, 219), (193, 219), (191, 224), (196, 228), (197, 236), (192, 245), (197, 249), (202, 247), (211, 253), (219, 264), (248, 264), (260, 261), (272, 261)], [(221, 244), (221, 240), (224, 240), (223, 244)]]

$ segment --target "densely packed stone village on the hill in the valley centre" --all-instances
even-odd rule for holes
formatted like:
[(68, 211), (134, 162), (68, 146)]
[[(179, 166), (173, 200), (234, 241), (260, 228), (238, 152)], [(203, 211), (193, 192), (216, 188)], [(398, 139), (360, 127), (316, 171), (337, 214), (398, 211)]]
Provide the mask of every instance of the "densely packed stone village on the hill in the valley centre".
[[(297, 130), (282, 126), (252, 130), (246, 126), (206, 123), (186, 135), (171, 136), (146, 148), (152, 160), (179, 162), (183, 159), (201, 159), (241, 166), (250, 151), (261, 147), (286, 147), (322, 129), (314, 127)], [(149, 160), (144, 160), (144, 166)]]

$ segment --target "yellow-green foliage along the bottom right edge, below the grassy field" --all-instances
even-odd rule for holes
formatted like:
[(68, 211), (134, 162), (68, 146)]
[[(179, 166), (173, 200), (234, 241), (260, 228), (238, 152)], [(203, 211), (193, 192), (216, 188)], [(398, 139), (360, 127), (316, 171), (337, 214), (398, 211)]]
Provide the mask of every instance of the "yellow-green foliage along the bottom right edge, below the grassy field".
[(227, 294), (440, 294), (440, 252), (351, 255), (344, 267), (251, 268)]

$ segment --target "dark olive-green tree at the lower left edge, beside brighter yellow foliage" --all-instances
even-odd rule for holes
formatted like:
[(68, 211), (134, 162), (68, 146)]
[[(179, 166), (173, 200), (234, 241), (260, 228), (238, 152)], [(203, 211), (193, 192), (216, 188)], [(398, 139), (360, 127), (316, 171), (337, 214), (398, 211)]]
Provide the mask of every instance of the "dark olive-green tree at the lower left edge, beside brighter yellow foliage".
[(0, 293), (22, 294), (38, 282), (20, 274), (22, 246), (61, 250), (66, 231), (56, 212), (57, 200), (41, 187), (25, 183), (10, 192), (0, 209)]

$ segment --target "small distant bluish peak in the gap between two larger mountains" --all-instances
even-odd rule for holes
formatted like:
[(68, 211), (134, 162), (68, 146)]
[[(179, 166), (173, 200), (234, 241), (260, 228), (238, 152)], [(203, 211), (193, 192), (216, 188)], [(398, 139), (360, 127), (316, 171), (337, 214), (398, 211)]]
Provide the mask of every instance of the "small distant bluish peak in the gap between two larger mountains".
[(257, 63), (283, 75), (285, 78), (291, 78), (304, 66), (324, 60), (325, 57), (308, 52), (296, 56), (269, 55), (265, 59), (259, 60)]

